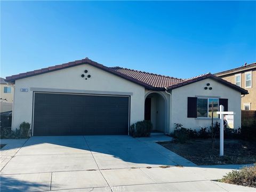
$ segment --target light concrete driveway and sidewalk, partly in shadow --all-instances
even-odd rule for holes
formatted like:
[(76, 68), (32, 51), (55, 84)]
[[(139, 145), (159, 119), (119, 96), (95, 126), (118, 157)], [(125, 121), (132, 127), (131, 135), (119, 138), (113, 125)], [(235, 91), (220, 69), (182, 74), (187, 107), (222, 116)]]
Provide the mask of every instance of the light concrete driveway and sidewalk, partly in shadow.
[(255, 191), (211, 181), (230, 167), (196, 166), (154, 142), (166, 140), (171, 138), (1, 140), (7, 144), (1, 150), (1, 191)]

